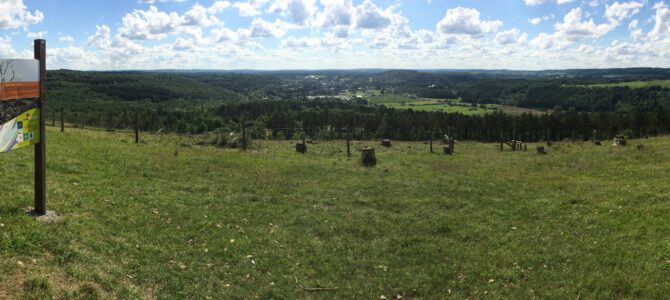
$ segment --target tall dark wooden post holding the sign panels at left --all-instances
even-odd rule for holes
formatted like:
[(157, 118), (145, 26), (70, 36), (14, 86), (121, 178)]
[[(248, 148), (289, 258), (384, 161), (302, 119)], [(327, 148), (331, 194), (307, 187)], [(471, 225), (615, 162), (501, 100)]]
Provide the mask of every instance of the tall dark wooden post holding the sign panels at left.
[(47, 182), (46, 182), (46, 122), (44, 112), (44, 100), (47, 93), (47, 43), (45, 40), (35, 40), (35, 59), (39, 60), (39, 98), (37, 108), (40, 112), (40, 141), (35, 144), (35, 214), (47, 213)]

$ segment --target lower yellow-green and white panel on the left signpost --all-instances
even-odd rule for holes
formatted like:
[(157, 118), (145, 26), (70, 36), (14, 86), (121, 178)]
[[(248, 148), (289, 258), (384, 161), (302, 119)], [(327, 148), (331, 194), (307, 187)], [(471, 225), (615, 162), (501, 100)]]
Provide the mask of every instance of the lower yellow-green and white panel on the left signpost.
[(9, 152), (40, 141), (40, 110), (33, 108), (0, 125), (0, 152)]

